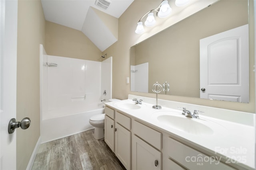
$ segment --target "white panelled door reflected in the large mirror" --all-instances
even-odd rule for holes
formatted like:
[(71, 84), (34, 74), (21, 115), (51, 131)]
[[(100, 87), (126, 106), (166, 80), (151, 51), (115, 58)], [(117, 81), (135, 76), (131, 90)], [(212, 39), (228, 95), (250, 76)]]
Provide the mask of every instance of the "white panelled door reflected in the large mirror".
[(200, 39), (200, 98), (249, 102), (248, 24)]

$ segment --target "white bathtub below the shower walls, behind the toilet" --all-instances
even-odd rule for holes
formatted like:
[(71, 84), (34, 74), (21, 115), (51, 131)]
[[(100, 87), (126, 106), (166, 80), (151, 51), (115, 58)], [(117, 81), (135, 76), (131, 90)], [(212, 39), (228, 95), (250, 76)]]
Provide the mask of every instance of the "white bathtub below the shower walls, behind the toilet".
[(102, 113), (104, 108), (101, 107), (82, 113), (43, 119), (40, 128), (41, 142), (45, 143), (93, 129), (94, 127), (89, 123), (90, 117)]

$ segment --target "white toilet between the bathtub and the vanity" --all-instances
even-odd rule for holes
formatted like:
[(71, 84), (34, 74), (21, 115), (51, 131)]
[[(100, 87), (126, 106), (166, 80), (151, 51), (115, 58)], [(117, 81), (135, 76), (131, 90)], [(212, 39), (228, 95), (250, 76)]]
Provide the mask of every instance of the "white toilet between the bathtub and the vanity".
[[(119, 99), (108, 100), (108, 102), (116, 102), (116, 101), (119, 101)], [(89, 123), (95, 127), (94, 139), (99, 140), (104, 138), (104, 121), (105, 121), (104, 119), (105, 119), (105, 113), (94, 115), (90, 118)]]

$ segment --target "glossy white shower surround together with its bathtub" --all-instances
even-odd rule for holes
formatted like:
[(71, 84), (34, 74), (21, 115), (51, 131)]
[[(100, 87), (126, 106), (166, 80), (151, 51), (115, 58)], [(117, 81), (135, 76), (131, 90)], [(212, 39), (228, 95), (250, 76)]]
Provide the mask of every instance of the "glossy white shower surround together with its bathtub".
[[(112, 97), (112, 57), (88, 61), (47, 55), (40, 45), (40, 136), (52, 141), (93, 127)], [(103, 95), (106, 90), (106, 95)]]

